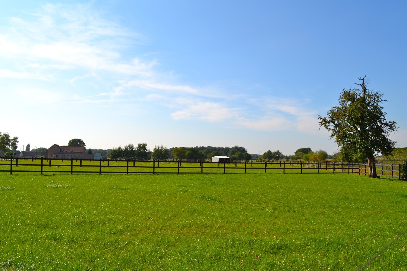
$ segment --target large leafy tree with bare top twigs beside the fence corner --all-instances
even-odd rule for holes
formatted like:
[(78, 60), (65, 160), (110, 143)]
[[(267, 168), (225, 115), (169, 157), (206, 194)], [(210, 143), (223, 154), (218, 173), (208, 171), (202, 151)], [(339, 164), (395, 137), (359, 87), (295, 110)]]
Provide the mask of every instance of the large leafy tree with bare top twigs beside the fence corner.
[(350, 155), (363, 153), (369, 164), (370, 177), (377, 178), (374, 158), (378, 153), (389, 155), (397, 142), (389, 139), (397, 131), (395, 121), (387, 121), (383, 112), (383, 93), (368, 90), (368, 79), (359, 78), (359, 88), (342, 89), (339, 105), (326, 117), (318, 115), (319, 127), (324, 126), (342, 150)]

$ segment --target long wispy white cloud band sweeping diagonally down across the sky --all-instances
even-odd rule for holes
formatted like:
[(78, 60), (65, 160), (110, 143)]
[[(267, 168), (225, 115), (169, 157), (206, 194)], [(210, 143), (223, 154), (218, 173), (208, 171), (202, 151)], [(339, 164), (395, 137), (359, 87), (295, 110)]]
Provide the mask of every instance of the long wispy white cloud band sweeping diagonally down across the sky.
[[(316, 114), (298, 100), (253, 97), (236, 82), (191, 86), (176, 81), (173, 72), (159, 71), (159, 61), (149, 59), (148, 52), (128, 56), (127, 48), (146, 39), (104, 17), (92, 10), (92, 4), (46, 4), (24, 19), (11, 18), (9, 26), (0, 28), (0, 78), (58, 82), (68, 85), (65, 92), (73, 91), (61, 94), (46, 85), (19, 92), (26, 98), (45, 97), (42, 102), (160, 104), (175, 121), (228, 122), (236, 128), (263, 131), (317, 131)], [(85, 89), (89, 86), (92, 91)]]

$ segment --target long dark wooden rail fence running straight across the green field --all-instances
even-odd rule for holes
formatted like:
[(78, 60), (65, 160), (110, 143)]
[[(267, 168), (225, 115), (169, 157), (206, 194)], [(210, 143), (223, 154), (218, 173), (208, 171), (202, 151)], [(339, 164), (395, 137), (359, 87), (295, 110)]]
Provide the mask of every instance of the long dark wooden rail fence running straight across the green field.
[(0, 172), (33, 173), (360, 173), (358, 163), (258, 162), (212, 163), (208, 161), (82, 160), (5, 158)]

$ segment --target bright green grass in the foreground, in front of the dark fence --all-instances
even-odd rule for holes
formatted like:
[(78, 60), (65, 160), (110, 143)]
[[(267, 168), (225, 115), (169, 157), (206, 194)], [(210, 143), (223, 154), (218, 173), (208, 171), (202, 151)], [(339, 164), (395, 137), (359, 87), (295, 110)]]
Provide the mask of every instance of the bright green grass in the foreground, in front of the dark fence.
[(406, 211), (407, 182), (348, 174), (2, 174), (0, 270), (357, 270)]

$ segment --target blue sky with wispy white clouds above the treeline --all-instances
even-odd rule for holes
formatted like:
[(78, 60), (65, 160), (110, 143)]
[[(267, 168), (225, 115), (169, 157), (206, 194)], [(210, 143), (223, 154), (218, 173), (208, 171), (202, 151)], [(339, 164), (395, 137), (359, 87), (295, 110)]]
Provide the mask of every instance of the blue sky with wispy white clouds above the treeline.
[(332, 154), (317, 114), (367, 76), (406, 147), (405, 14), (405, 1), (7, 1), (0, 131), (21, 149)]

